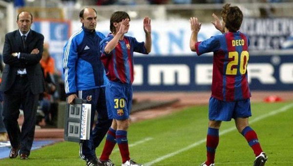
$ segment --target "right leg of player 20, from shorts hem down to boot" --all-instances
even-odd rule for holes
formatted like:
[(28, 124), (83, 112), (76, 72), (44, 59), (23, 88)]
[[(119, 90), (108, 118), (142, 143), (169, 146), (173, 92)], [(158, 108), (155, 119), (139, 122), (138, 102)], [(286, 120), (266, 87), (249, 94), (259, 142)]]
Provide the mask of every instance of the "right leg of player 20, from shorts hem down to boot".
[(235, 126), (245, 139), (255, 154), (254, 166), (264, 166), (267, 155), (263, 152), (256, 132), (249, 126), (249, 116), (251, 116), (250, 100), (238, 101), (234, 113)]

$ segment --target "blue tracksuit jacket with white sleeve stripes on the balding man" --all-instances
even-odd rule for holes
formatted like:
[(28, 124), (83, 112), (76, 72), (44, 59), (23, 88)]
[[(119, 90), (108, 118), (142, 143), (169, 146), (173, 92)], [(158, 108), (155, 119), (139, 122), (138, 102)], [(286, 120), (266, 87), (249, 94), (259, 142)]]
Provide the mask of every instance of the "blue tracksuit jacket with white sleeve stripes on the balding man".
[(64, 86), (67, 95), (104, 85), (104, 66), (100, 60), (100, 32), (82, 28), (63, 47)]

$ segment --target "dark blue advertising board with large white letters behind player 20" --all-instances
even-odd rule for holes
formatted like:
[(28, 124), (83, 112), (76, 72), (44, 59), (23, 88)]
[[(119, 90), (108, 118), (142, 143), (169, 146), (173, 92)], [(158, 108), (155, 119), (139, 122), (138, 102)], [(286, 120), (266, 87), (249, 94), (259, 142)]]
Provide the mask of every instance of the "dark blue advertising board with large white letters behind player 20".
[[(212, 56), (136, 56), (134, 91), (210, 91)], [(251, 90), (292, 91), (293, 55), (251, 55)]]

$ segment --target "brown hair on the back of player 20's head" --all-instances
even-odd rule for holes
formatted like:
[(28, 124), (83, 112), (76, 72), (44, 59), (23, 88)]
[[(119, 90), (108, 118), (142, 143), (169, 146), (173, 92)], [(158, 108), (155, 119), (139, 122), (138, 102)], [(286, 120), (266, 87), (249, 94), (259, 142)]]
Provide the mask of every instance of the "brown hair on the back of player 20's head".
[(230, 6), (229, 3), (223, 6), (221, 16), (225, 22), (225, 27), (230, 32), (237, 32), (242, 24), (243, 13), (238, 6)]

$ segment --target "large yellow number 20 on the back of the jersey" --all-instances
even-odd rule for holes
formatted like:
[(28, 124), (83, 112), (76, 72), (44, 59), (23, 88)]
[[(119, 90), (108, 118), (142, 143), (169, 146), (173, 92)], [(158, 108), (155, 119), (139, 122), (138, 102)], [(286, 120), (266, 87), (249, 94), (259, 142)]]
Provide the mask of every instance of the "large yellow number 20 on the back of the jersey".
[[(240, 54), (240, 66), (238, 64), (239, 54), (236, 51), (229, 52), (229, 58), (234, 58), (227, 64), (226, 74), (227, 75), (236, 75), (237, 69), (239, 69), (240, 74), (245, 74), (247, 70), (247, 62), (249, 59), (248, 51), (242, 51)], [(235, 65), (237, 68), (235, 68)]]

